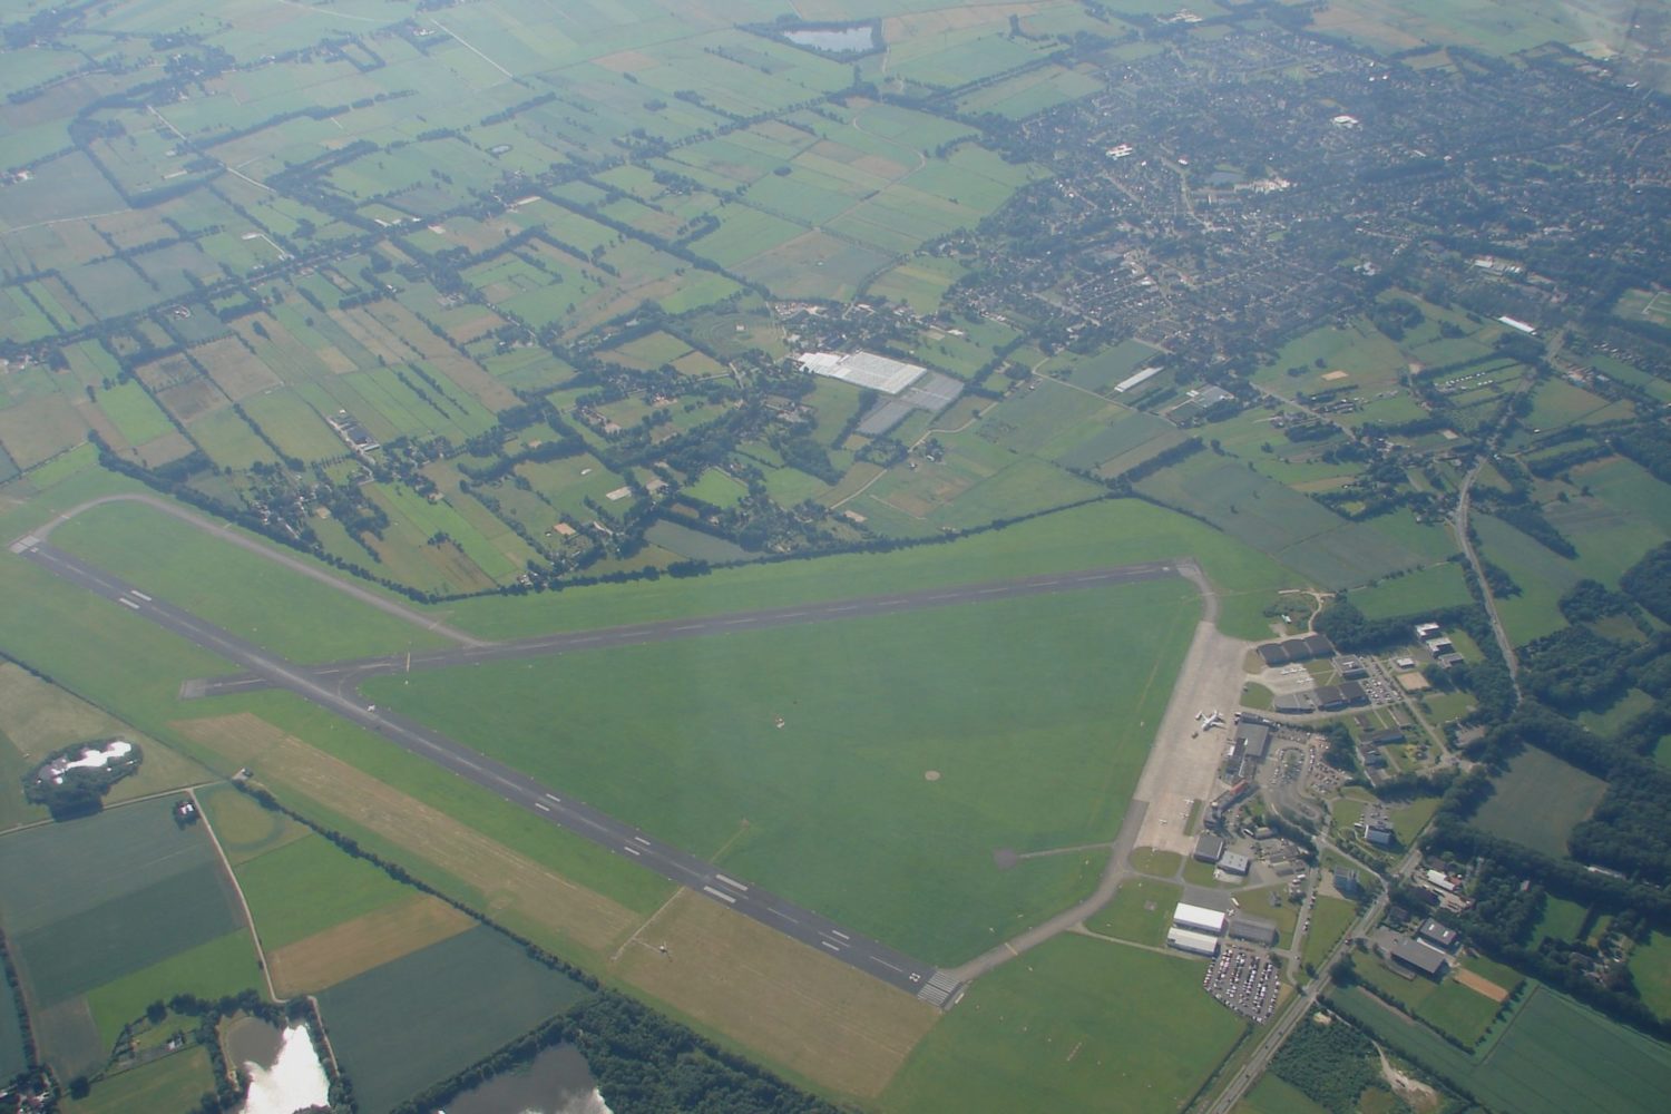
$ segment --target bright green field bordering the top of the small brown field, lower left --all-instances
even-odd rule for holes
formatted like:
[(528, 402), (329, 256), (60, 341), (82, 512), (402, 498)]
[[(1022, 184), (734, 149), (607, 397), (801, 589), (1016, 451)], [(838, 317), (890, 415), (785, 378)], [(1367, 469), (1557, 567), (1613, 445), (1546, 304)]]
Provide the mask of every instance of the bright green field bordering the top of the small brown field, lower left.
[(317, 835), (244, 862), (237, 867), (237, 884), (269, 950), (411, 895), (408, 887)]

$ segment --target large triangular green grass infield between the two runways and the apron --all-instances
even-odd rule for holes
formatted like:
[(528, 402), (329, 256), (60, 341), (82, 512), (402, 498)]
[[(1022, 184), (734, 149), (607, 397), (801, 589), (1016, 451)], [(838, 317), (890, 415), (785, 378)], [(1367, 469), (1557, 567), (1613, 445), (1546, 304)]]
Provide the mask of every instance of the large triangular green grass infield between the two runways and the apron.
[(698, 855), (747, 822), (727, 870), (949, 959), (1071, 895), (1071, 862), (993, 852), (1113, 837), (1196, 615), (1166, 580), (366, 693)]

